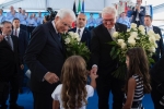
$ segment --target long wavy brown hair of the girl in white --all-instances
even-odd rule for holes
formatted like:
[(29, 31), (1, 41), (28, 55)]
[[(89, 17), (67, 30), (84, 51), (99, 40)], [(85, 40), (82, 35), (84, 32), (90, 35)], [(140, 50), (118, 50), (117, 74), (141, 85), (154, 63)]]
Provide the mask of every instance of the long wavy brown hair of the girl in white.
[(86, 101), (86, 63), (80, 56), (69, 57), (61, 71), (61, 100), (65, 109), (77, 109)]

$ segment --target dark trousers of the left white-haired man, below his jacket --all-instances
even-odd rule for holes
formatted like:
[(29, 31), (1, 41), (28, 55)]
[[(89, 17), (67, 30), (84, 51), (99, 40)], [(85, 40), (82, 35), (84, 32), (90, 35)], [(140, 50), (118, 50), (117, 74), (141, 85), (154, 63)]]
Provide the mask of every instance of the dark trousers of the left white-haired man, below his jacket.
[(33, 92), (34, 109), (52, 109), (51, 94)]

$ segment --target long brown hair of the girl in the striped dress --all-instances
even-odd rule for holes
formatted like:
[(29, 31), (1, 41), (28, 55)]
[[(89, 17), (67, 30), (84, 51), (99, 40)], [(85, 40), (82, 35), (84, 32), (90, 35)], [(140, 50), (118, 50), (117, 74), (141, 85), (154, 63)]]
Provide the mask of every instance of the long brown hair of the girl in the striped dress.
[(149, 74), (149, 62), (145, 51), (141, 47), (129, 49), (126, 53), (129, 57), (129, 68), (127, 75), (127, 83), (125, 90), (128, 89), (128, 81), (133, 74), (138, 74), (143, 81), (143, 92), (150, 93), (150, 74)]

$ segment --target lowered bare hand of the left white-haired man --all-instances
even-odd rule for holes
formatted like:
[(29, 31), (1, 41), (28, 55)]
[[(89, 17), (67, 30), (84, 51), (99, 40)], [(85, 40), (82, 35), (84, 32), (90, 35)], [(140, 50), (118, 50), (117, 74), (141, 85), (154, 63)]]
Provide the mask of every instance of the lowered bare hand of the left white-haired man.
[(50, 84), (57, 83), (59, 81), (59, 77), (55, 73), (51, 73), (51, 72), (46, 73), (44, 78)]

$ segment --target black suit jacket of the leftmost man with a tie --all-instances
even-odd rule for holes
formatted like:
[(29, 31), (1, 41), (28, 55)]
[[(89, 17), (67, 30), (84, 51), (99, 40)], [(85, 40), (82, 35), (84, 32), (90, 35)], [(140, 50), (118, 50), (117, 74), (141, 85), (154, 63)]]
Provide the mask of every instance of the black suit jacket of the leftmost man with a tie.
[(0, 78), (8, 78), (17, 74), (20, 68), (20, 56), (19, 56), (19, 39), (11, 35), (14, 51), (10, 45), (3, 39), (0, 43)]

